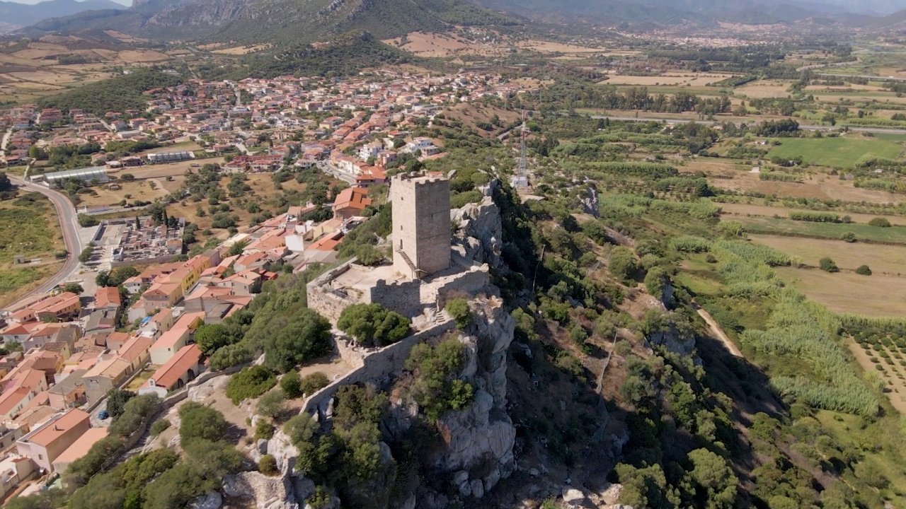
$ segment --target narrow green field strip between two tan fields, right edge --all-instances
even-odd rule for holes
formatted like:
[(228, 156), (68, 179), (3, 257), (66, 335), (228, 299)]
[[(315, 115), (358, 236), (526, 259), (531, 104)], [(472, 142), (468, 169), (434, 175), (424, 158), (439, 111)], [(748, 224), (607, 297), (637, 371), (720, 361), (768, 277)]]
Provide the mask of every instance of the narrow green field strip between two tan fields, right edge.
[(741, 221), (746, 226), (746, 229), (754, 234), (839, 239), (844, 233), (853, 232), (858, 240), (906, 245), (906, 227), (902, 226), (882, 228), (880, 226), (860, 225), (857, 223), (850, 225), (809, 223), (806, 221), (793, 221), (783, 217), (734, 216), (734, 219)]

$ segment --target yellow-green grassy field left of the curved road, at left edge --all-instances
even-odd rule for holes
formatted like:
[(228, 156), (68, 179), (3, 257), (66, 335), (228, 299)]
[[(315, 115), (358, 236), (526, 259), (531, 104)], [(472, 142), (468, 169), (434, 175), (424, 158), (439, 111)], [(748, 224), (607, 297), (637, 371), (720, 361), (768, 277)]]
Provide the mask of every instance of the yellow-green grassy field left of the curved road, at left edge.
[[(50, 201), (37, 193), (0, 202), (0, 306), (41, 284), (63, 261), (53, 252), (64, 248)], [(24, 255), (30, 264), (14, 264)]]

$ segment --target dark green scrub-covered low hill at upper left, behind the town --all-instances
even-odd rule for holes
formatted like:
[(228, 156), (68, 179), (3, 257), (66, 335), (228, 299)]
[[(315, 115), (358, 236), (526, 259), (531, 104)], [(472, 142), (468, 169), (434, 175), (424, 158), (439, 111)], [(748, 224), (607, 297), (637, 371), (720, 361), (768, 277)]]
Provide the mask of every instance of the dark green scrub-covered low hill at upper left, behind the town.
[(170, 87), (182, 81), (178, 75), (138, 70), (48, 97), (40, 104), (43, 108), (85, 110), (101, 116), (108, 111), (145, 110), (148, 96), (143, 96), (142, 92)]

